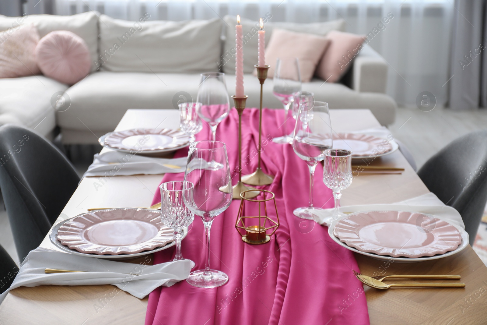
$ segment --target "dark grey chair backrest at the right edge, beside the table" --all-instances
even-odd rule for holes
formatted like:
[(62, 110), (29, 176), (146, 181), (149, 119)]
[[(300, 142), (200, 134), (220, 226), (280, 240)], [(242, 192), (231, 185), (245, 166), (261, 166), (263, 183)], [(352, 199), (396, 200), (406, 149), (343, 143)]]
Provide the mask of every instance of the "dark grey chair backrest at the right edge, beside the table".
[(418, 175), (443, 203), (460, 212), (473, 245), (487, 201), (487, 131), (450, 142)]

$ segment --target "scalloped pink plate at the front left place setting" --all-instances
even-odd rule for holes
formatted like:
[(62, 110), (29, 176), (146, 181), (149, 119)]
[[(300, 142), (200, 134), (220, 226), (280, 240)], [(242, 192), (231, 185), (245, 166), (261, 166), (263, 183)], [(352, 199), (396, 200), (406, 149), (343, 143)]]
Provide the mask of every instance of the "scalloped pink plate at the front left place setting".
[(134, 254), (174, 240), (161, 211), (122, 208), (83, 213), (57, 230), (61, 244), (82, 253)]

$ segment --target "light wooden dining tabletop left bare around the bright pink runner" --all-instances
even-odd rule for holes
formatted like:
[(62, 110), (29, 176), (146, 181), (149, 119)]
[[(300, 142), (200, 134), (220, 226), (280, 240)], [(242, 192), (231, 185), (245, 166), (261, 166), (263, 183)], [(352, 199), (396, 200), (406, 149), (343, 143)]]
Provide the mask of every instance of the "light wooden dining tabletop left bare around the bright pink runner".
[[(330, 115), (334, 132), (380, 127), (369, 110), (331, 110)], [(176, 110), (131, 109), (115, 131), (177, 128), (178, 125)], [(97, 137), (95, 133), (94, 137)], [(402, 174), (359, 173), (352, 185), (343, 191), (342, 206), (394, 203), (429, 192), (400, 151), (376, 158), (371, 165), (405, 170)], [(162, 176), (85, 177), (56, 223), (90, 208), (149, 207)], [(40, 246), (56, 249), (48, 235)], [(487, 267), (469, 245), (449, 257), (418, 263), (384, 262), (361, 254), (355, 257), (363, 274), (458, 274), (466, 284), (460, 289), (365, 287), (371, 324), (487, 324)], [(54, 265), (47, 267), (56, 268)], [(408, 280), (397, 283), (404, 281)], [(449, 280), (436, 281), (448, 283)], [(147, 297), (140, 300), (111, 285), (18, 287), (11, 290), (0, 305), (0, 325), (138, 325), (144, 324), (147, 301)], [(353, 301), (353, 297), (349, 297), (336, 303), (346, 308)], [(333, 324), (332, 320), (328, 325)]]

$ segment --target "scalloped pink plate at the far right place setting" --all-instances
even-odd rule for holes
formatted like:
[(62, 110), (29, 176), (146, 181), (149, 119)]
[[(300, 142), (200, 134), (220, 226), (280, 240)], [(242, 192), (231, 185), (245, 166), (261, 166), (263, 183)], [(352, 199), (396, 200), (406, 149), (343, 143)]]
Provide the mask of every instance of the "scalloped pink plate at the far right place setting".
[(377, 156), (393, 150), (391, 141), (373, 135), (338, 133), (333, 136), (333, 148), (352, 152), (352, 158)]

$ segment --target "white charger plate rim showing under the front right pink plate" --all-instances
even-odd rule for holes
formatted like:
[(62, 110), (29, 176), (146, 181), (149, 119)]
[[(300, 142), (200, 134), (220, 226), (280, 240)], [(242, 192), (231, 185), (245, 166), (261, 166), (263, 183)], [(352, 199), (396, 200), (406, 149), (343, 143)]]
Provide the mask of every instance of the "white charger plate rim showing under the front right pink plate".
[[(423, 261), (431, 261), (431, 260), (437, 260), (439, 258), (444, 258), (444, 257), (454, 255), (454, 254), (460, 252), (461, 250), (465, 249), (468, 245), (468, 233), (467, 233), (467, 231), (465, 231), (465, 229), (463, 229), (459, 226), (451, 224), (453, 227), (455, 227), (460, 232), (460, 235), (462, 236), (462, 243), (456, 249), (448, 251), (444, 254), (437, 254), (437, 255), (433, 255), (433, 256), (422, 256), (422, 257), (411, 258), (411, 257), (392, 257), (392, 256), (388, 256), (388, 255), (377, 255), (374, 253), (364, 252), (364, 251), (356, 249), (355, 247), (348, 246), (346, 243), (343, 243), (334, 234), (335, 226), (337, 225), (338, 221), (340, 221), (341, 219), (346, 218), (348, 216), (358, 214), (358, 213), (363, 213), (363, 212), (364, 211), (351, 213), (351, 214), (342, 216), (342, 217), (338, 218), (337, 220), (333, 221), (332, 224), (328, 227), (328, 235), (330, 235), (331, 239), (333, 239), (338, 245), (340, 245), (346, 249), (349, 249), (355, 253), (362, 254), (362, 255), (365, 255), (368, 257), (372, 257), (376, 260), (387, 261), (387, 262), (395, 262), (395, 263), (417, 263), (417, 262), (423, 262)], [(425, 213), (422, 213), (422, 214), (425, 214)]]

